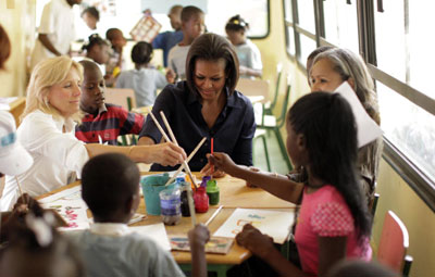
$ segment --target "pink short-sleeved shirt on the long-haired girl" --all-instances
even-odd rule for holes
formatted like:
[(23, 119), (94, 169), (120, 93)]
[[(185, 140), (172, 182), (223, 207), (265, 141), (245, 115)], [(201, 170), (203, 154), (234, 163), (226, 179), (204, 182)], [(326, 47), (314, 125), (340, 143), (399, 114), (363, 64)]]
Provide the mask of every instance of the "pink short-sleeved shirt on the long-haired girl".
[(302, 270), (310, 276), (318, 276), (318, 236), (347, 236), (347, 257), (365, 261), (370, 261), (372, 257), (369, 238), (363, 247), (358, 244), (352, 214), (341, 194), (331, 185), (325, 185), (312, 193), (307, 193), (307, 188), (303, 190), (295, 242)]

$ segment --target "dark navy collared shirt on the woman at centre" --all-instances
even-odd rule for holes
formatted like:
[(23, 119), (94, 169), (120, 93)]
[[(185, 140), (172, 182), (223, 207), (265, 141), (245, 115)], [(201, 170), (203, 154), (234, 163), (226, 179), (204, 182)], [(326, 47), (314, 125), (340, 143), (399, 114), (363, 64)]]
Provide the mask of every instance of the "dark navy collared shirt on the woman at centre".
[[(223, 93), (226, 93), (226, 103), (211, 128), (202, 116), (199, 97), (189, 90), (186, 81), (166, 86), (156, 99), (152, 113), (164, 128), (160, 111), (164, 112), (178, 144), (187, 154), (194, 151), (203, 137), (207, 137), (207, 142), (189, 162), (191, 171), (200, 171), (208, 163), (206, 154), (210, 153), (212, 137), (215, 152), (227, 153), (237, 164), (252, 165), (252, 138), (256, 133), (252, 104), (238, 91), (229, 96), (227, 89), (224, 89)], [(140, 136), (150, 137), (156, 143), (160, 142), (162, 135), (150, 116)], [(175, 168), (159, 164), (151, 166), (152, 171)]]

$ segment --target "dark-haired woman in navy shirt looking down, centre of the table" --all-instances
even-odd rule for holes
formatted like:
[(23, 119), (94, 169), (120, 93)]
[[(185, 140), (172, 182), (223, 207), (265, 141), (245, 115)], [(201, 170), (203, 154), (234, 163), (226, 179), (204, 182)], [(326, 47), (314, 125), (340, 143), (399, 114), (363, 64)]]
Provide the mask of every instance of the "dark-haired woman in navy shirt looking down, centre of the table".
[[(166, 86), (156, 100), (152, 113), (160, 121), (163, 111), (179, 146), (190, 153), (202, 137), (208, 141), (189, 163), (190, 169), (210, 174), (206, 154), (210, 139), (214, 151), (227, 153), (237, 164), (252, 165), (252, 137), (256, 131), (252, 104), (239, 91), (238, 60), (233, 46), (223, 37), (204, 34), (195, 39), (187, 54), (186, 80)], [(148, 116), (139, 144), (159, 143), (162, 135)], [(153, 164), (152, 171), (174, 167)], [(215, 172), (214, 177), (222, 176)]]

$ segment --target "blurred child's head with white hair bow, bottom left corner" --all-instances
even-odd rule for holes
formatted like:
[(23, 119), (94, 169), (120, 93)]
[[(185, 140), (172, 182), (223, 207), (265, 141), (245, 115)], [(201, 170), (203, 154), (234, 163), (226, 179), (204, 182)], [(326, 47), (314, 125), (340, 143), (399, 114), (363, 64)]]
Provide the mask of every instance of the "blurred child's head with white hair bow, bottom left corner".
[(27, 214), (25, 223), (15, 224), (11, 232), (13, 236), (0, 260), (1, 276), (85, 276), (74, 245), (44, 217)]

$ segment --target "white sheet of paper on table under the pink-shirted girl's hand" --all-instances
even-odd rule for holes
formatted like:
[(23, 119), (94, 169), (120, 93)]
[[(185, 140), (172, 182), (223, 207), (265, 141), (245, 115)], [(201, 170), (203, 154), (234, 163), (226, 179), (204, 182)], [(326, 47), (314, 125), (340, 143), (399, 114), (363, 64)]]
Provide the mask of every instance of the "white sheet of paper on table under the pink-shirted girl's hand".
[(294, 218), (294, 212), (236, 209), (213, 236), (235, 238), (249, 223), (262, 234), (271, 236), (275, 243), (283, 244), (290, 234)]

